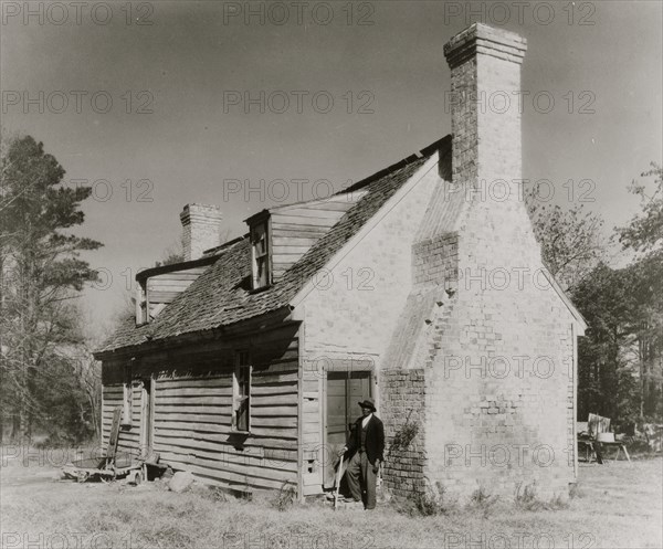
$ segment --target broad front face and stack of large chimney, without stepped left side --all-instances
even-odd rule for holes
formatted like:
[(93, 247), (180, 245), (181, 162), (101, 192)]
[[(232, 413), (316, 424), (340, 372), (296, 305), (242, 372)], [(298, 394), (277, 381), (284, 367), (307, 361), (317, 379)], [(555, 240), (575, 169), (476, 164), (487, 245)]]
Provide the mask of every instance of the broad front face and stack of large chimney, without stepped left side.
[(541, 283), (522, 194), (526, 47), (482, 24), (444, 46), (452, 180), (465, 210), (457, 292), (434, 328), (445, 344), (427, 372), (427, 474), (465, 494), (481, 486), (507, 496), (533, 484), (548, 498), (573, 481), (573, 319)]

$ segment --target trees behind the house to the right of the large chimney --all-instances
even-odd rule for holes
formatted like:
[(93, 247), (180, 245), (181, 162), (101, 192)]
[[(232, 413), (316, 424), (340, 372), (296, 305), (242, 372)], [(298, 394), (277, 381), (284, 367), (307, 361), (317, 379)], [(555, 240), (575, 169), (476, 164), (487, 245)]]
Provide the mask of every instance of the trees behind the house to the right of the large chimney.
[(588, 324), (578, 344), (578, 421), (598, 413), (622, 429), (663, 423), (662, 176), (652, 163), (631, 183), (640, 211), (608, 240), (602, 218), (583, 204), (546, 207), (530, 194), (544, 261)]

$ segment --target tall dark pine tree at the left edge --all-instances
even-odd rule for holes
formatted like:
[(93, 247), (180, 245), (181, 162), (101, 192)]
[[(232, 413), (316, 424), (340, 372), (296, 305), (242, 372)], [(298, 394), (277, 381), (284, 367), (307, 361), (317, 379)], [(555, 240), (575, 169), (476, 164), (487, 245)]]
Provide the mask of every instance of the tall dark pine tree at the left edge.
[(92, 189), (63, 184), (64, 168), (43, 144), (17, 137), (1, 152), (0, 416), (14, 439), (29, 440), (48, 414), (43, 391), (60, 377), (59, 348), (80, 339), (72, 298), (97, 278), (80, 254), (102, 243), (65, 232), (84, 222)]

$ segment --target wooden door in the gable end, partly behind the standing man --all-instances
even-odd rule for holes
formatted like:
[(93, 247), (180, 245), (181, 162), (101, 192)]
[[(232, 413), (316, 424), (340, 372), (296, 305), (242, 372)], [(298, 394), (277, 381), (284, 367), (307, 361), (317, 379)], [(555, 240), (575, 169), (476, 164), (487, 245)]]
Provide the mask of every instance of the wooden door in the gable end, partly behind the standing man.
[(334, 486), (338, 451), (349, 437), (349, 424), (361, 415), (359, 402), (370, 397), (371, 372), (328, 372), (325, 421), (325, 487)]

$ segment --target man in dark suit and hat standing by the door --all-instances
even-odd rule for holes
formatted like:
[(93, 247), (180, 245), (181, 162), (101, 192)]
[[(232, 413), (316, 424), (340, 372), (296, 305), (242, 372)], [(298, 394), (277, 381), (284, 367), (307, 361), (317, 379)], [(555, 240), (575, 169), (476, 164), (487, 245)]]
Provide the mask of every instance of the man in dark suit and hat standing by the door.
[(366, 508), (376, 508), (376, 481), (380, 463), (385, 460), (385, 425), (376, 416), (373, 399), (359, 402), (359, 418), (350, 433), (350, 440), (341, 450), (348, 453), (348, 487), (355, 502), (361, 502), (361, 489), (366, 490)]

